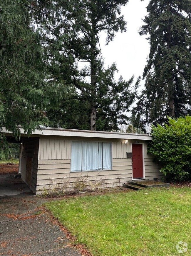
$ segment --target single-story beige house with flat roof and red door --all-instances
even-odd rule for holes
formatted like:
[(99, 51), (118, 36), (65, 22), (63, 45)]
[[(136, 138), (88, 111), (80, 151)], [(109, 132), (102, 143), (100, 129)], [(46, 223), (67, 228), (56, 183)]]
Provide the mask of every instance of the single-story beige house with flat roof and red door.
[[(19, 170), (35, 194), (56, 187), (116, 187), (163, 176), (147, 153), (150, 135), (42, 128), (28, 137), (20, 130)], [(9, 141), (11, 133), (4, 132)]]

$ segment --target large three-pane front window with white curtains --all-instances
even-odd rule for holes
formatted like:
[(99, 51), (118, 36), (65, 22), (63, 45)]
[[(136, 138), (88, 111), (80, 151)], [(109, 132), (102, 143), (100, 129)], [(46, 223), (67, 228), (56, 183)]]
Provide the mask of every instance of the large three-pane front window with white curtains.
[(72, 141), (71, 172), (110, 169), (110, 142)]

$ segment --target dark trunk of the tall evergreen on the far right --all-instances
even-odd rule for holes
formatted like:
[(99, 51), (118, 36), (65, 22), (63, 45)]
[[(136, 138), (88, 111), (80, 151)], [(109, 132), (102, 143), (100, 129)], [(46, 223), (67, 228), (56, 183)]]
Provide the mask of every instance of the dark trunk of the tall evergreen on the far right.
[[(170, 4), (167, 3), (167, 11), (170, 12)], [(170, 50), (172, 42), (171, 42), (171, 21), (168, 20), (167, 25), (167, 49)], [(174, 85), (173, 85), (173, 77), (172, 70), (170, 71), (169, 78), (167, 79), (167, 95), (168, 95), (168, 115), (170, 117), (175, 117), (175, 99), (174, 99)]]

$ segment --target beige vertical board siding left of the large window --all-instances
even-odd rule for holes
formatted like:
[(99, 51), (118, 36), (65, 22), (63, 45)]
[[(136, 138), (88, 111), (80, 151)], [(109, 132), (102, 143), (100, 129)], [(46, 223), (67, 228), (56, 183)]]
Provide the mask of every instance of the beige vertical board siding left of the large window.
[(71, 141), (40, 139), (38, 160), (70, 159)]

